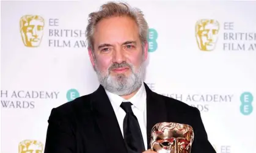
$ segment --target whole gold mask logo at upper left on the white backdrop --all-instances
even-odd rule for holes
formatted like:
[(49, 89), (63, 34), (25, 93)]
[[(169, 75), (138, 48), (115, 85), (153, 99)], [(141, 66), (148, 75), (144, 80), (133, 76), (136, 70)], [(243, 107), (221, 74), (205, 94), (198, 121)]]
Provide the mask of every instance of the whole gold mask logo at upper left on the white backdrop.
[(25, 46), (38, 47), (43, 38), (45, 20), (38, 15), (24, 15), (20, 19), (20, 33)]

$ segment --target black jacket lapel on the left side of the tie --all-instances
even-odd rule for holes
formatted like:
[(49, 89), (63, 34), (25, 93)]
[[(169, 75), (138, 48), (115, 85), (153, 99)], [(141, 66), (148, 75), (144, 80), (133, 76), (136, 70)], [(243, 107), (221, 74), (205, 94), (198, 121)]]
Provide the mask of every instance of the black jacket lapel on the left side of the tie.
[(109, 150), (108, 152), (125, 153), (125, 143), (115, 112), (108, 95), (101, 85), (92, 93), (92, 99), (93, 113), (95, 114), (95, 119), (103, 135), (106, 147)]

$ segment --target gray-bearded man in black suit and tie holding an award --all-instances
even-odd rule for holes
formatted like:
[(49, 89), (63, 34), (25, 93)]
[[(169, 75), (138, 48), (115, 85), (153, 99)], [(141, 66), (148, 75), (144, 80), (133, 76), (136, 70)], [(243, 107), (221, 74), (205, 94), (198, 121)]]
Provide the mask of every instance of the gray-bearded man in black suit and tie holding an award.
[(148, 25), (142, 12), (109, 2), (89, 17), (89, 56), (100, 87), (52, 110), (45, 153), (153, 152), (150, 132), (161, 122), (191, 125), (191, 152), (216, 153), (199, 110), (154, 93), (143, 82)]

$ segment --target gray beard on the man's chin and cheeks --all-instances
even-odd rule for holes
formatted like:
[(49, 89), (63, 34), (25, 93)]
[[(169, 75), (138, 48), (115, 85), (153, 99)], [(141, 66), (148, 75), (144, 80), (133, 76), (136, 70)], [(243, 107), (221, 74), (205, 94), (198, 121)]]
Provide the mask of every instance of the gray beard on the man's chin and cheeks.
[(97, 65), (95, 65), (95, 71), (100, 84), (105, 88), (105, 90), (119, 96), (131, 94), (138, 90), (142, 85), (142, 80), (144, 78), (144, 69), (142, 68), (142, 65), (139, 67), (137, 72), (135, 72), (133, 66), (130, 65), (130, 68), (132, 69), (132, 73), (128, 77), (124, 74), (111, 76), (109, 74), (109, 70), (107, 71), (106, 75), (101, 74), (97, 68)]

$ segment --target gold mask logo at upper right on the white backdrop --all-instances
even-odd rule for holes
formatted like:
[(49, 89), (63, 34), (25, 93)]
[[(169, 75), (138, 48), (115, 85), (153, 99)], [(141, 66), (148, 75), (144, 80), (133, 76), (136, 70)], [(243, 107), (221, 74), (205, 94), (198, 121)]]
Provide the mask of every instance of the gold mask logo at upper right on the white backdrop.
[(201, 51), (215, 49), (219, 33), (219, 22), (216, 20), (199, 20), (196, 23), (196, 40)]

